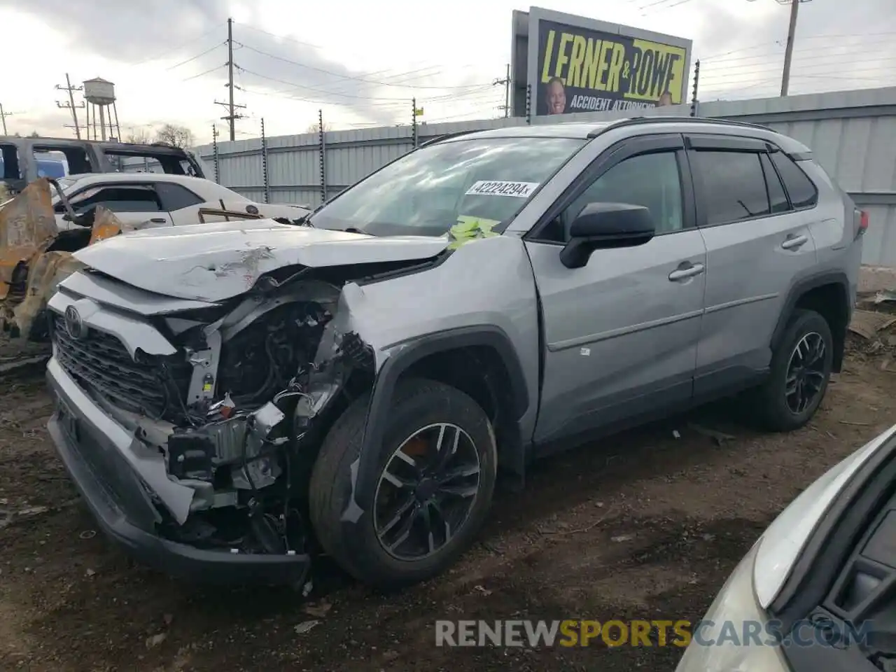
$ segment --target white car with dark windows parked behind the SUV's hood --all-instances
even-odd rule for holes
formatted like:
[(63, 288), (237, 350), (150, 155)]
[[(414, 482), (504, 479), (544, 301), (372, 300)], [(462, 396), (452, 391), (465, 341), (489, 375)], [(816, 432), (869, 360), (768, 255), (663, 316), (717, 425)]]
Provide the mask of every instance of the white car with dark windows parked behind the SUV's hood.
[[(200, 223), (202, 209), (260, 214), (264, 218), (298, 220), (309, 210), (299, 205), (259, 203), (211, 180), (167, 173), (85, 173), (57, 180), (75, 215), (98, 205), (115, 212), (118, 220), (136, 228)], [(53, 202), (60, 230), (77, 228), (58, 194)], [(204, 221), (223, 221), (204, 216)]]

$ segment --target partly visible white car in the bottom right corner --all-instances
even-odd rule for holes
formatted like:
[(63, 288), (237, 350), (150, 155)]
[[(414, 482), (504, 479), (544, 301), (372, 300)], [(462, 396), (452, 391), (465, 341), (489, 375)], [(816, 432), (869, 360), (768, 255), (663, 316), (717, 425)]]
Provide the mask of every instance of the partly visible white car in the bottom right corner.
[(676, 672), (896, 669), (896, 425), (807, 487), (722, 587)]

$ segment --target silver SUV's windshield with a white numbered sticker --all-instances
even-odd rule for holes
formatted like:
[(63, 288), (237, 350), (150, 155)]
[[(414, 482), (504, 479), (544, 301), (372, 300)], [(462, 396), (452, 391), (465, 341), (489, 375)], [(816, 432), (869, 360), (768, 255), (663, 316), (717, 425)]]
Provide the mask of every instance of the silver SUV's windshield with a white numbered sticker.
[(585, 142), (474, 138), (423, 147), (340, 194), (311, 223), (371, 236), (444, 236), (470, 220), (501, 230)]

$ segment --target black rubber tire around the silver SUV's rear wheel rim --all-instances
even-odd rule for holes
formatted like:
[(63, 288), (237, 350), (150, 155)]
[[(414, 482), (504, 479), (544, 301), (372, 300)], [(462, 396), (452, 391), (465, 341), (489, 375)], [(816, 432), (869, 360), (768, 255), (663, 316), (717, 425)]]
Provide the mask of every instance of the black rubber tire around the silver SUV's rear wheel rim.
[[(819, 381), (819, 387), (814, 390), (811, 401), (806, 403), (805, 408), (800, 409), (795, 403), (796, 395), (788, 396), (787, 393), (788, 370), (792, 358), (796, 356), (798, 345), (805, 349), (806, 344), (819, 341), (823, 343), (823, 356), (818, 358), (817, 366), (810, 367), (813, 373), (806, 376), (807, 379)], [(833, 337), (827, 320), (814, 310), (797, 309), (788, 322), (778, 348), (772, 353), (769, 377), (754, 397), (754, 408), (758, 411), (762, 428), (772, 432), (788, 432), (806, 425), (824, 398), (832, 366)], [(810, 385), (812, 386), (814, 383)]]

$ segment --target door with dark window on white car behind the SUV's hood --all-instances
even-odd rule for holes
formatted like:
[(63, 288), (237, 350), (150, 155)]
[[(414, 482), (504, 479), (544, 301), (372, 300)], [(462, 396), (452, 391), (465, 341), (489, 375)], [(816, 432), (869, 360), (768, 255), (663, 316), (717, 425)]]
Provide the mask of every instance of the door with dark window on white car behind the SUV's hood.
[[(113, 211), (122, 224), (134, 228), (171, 226), (171, 215), (162, 210), (159, 194), (152, 185), (119, 182), (91, 185), (69, 196), (76, 215), (102, 206)], [(56, 224), (60, 229), (78, 228), (65, 214), (62, 204), (56, 206)]]

